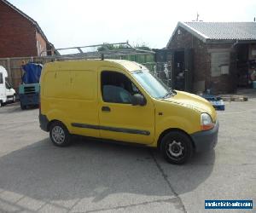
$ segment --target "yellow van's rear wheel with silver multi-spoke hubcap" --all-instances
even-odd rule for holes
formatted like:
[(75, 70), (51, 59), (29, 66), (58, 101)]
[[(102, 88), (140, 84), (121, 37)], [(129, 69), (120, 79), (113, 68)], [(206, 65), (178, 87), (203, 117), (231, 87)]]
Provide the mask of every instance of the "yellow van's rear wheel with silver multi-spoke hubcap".
[(71, 135), (67, 127), (59, 121), (55, 121), (49, 126), (49, 137), (57, 147), (67, 147), (71, 143)]

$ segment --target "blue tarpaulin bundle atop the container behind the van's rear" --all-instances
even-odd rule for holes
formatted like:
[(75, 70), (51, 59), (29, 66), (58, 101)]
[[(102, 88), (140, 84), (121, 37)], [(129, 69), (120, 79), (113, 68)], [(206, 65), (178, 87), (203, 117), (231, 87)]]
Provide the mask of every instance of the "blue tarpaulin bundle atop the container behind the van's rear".
[(27, 63), (22, 66), (24, 74), (22, 76), (23, 83), (39, 83), (41, 76), (42, 65), (35, 63)]

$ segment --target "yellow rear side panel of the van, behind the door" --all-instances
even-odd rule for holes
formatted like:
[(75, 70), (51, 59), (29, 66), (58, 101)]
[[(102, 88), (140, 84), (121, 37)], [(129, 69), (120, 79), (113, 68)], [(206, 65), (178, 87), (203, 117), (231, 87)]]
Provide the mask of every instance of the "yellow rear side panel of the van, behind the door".
[[(80, 61), (79, 61), (80, 62)], [(72, 124), (98, 121), (96, 66), (69, 61), (49, 63), (41, 77), (41, 111), (49, 121), (60, 120), (72, 134), (99, 137), (98, 130)], [(44, 81), (44, 83), (42, 83)]]

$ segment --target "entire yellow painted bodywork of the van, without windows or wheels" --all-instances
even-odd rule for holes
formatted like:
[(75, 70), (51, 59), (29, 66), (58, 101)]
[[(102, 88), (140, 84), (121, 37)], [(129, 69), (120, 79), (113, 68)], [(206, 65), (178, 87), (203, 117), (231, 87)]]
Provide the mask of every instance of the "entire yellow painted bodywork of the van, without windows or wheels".
[[(143, 66), (127, 60), (72, 60), (51, 62), (40, 78), (41, 112), (50, 121), (59, 120), (71, 134), (115, 141), (137, 142), (156, 147), (160, 135), (171, 129), (188, 135), (201, 131), (201, 113), (213, 122), (212, 105), (197, 95), (177, 91), (166, 99), (154, 99), (132, 77)], [(106, 103), (102, 100), (101, 73), (125, 74), (147, 100), (145, 106)], [(110, 112), (103, 112), (109, 107)]]

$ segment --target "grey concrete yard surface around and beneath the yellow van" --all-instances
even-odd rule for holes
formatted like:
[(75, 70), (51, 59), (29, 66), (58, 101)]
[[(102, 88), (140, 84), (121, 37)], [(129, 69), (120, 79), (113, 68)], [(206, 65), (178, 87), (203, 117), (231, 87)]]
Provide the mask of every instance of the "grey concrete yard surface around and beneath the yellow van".
[(0, 212), (223, 212), (205, 210), (205, 199), (253, 199), (255, 210), (256, 98), (225, 104), (215, 151), (182, 166), (145, 147), (54, 147), (38, 109), (2, 107)]

